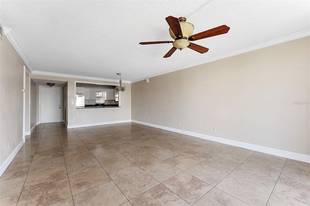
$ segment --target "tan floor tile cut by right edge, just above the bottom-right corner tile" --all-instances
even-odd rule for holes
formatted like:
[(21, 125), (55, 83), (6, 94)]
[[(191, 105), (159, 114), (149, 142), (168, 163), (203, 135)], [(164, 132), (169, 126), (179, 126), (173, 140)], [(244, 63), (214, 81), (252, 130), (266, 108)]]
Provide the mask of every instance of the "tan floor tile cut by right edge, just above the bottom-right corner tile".
[(279, 177), (274, 191), (310, 205), (310, 186)]

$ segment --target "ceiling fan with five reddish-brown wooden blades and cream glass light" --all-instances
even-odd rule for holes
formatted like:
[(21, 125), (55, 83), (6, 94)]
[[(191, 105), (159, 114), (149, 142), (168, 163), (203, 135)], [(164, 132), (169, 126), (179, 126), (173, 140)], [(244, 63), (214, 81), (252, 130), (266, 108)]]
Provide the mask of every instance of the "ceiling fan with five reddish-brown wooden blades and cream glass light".
[(202, 31), (198, 34), (193, 34), (194, 26), (191, 23), (186, 22), (185, 17), (175, 18), (168, 16), (166, 18), (170, 29), (169, 33), (172, 39), (175, 41), (161, 41), (161, 42), (140, 42), (139, 44), (165, 44), (172, 43), (173, 47), (164, 56), (164, 58), (170, 57), (176, 49), (184, 49), (186, 47), (193, 49), (201, 54), (206, 53), (209, 49), (198, 44), (191, 43), (190, 41), (200, 40), (220, 34), (225, 34), (230, 29), (226, 25), (222, 25), (213, 29)]

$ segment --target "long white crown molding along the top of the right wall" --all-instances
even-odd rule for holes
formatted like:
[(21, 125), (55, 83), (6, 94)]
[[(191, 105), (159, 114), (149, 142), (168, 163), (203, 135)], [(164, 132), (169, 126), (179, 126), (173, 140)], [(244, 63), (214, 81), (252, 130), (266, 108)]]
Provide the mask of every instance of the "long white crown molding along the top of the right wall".
[(225, 58), (228, 58), (228, 57), (232, 57), (232, 56), (235, 56), (235, 55), (239, 55), (239, 54), (243, 54), (243, 53), (246, 53), (246, 52), (254, 51), (254, 50), (257, 50), (257, 49), (262, 49), (264, 47), (268, 47), (268, 46), (272, 46), (272, 45), (276, 45), (276, 44), (281, 44), (281, 43), (284, 43), (284, 42), (289, 42), (289, 41), (292, 41), (292, 40), (295, 40), (295, 39), (300, 39), (300, 38), (303, 38), (303, 37), (306, 37), (306, 36), (310, 36), (310, 29), (304, 30), (304, 31), (301, 31), (301, 32), (298, 32), (298, 33), (294, 33), (294, 34), (291, 34), (291, 35), (288, 35), (288, 36), (280, 37), (278, 39), (274, 39), (274, 40), (271, 40), (271, 41), (268, 41), (268, 42), (264, 42), (262, 44), (256, 44), (256, 45), (253, 45), (253, 46), (249, 46), (247, 48), (239, 49), (237, 51), (233, 51), (233, 52), (229, 52), (229, 53), (226, 53), (226, 54), (223, 54), (223, 55), (219, 55), (217, 57), (213, 57), (213, 58), (210, 58), (210, 59), (199, 61), (199, 62), (194, 63), (194, 64), (188, 64), (186, 66), (179, 67), (177, 69), (169, 70), (169, 71), (162, 72), (162, 73), (157, 73), (157, 74), (154, 74), (154, 75), (151, 75), (151, 76), (145, 76), (145, 77), (133, 80), (133, 81), (131, 81), (131, 83), (135, 83), (135, 82), (139, 82), (139, 81), (144, 81), (146, 78), (151, 78), (151, 77), (155, 77), (155, 76), (159, 76), (159, 75), (163, 75), (163, 74), (168, 74), (168, 73), (171, 73), (171, 72), (175, 72), (175, 71), (187, 69), (187, 68), (190, 68), (190, 67), (198, 66), (198, 65), (201, 65), (201, 64), (209, 63), (211, 61), (216, 61), (216, 60), (219, 60), (219, 59), (225, 59)]

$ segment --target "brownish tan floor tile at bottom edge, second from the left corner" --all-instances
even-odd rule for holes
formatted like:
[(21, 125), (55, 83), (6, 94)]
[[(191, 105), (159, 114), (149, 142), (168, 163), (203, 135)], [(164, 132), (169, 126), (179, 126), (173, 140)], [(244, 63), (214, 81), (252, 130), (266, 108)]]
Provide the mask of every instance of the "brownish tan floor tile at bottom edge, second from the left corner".
[(69, 180), (62, 179), (41, 187), (23, 191), (20, 195), (18, 206), (50, 205), (70, 196)]

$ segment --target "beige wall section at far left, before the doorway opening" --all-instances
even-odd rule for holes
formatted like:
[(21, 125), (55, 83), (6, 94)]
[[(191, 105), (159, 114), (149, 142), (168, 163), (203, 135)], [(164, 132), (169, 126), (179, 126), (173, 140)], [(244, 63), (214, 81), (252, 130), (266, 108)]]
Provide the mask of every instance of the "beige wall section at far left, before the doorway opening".
[[(23, 140), (24, 62), (5, 35), (0, 40), (0, 165)], [(12, 147), (9, 141), (12, 140)]]

